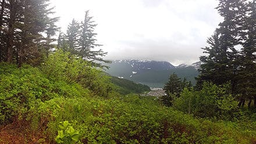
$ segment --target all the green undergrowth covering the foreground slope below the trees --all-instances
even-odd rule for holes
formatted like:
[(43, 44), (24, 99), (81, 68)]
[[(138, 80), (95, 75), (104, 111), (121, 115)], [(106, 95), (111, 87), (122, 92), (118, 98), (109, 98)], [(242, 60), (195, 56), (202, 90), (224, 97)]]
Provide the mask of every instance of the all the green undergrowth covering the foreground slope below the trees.
[(255, 122), (194, 118), (154, 97), (121, 95), (69, 53), (53, 53), (41, 67), (1, 63), (0, 70), (1, 143), (256, 142)]

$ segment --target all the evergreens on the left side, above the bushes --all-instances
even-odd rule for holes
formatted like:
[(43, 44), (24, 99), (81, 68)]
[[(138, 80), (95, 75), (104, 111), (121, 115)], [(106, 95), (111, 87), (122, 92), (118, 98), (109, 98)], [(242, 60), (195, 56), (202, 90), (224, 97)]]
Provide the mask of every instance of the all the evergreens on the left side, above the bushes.
[[(89, 61), (92, 66), (105, 67), (97, 61), (107, 53), (99, 49), (94, 28), (97, 26), (88, 10), (84, 21), (73, 20), (66, 34), (59, 31), (54, 8), (48, 0), (2, 0), (0, 1), (0, 62), (23, 63), (38, 66), (57, 49)], [(59, 31), (58, 45), (54, 37)]]

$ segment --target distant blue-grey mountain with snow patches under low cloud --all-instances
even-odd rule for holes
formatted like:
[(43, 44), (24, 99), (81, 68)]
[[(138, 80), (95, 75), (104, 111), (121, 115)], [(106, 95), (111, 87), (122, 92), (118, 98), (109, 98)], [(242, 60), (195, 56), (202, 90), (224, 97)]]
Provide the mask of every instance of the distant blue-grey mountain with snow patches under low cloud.
[(198, 75), (197, 64), (173, 66), (169, 62), (157, 62), (154, 60), (113, 60), (111, 64), (106, 64), (110, 69), (109, 73), (120, 79), (125, 78), (130, 81), (148, 85), (152, 88), (162, 88), (170, 74), (176, 73), (179, 77), (186, 77), (195, 84)]

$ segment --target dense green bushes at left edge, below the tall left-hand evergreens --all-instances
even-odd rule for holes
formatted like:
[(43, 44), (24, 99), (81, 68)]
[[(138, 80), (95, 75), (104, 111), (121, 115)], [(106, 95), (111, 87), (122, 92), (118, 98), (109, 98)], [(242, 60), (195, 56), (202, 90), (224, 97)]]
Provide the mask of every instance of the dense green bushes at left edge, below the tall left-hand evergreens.
[(65, 96), (88, 96), (89, 91), (79, 84), (65, 81), (50, 81), (40, 69), (0, 64), (0, 124), (12, 121), (13, 116), (21, 116), (36, 100), (49, 100)]

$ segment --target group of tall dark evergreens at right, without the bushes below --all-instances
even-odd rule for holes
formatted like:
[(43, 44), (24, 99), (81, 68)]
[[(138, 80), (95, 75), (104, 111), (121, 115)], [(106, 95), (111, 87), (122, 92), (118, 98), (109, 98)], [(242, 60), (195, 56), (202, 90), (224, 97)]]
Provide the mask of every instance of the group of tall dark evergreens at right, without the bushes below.
[(197, 88), (205, 81), (216, 85), (230, 82), (232, 95), (243, 107), (254, 99), (256, 107), (256, 1), (219, 0), (216, 8), (223, 17), (203, 48), (207, 56), (197, 77)]

